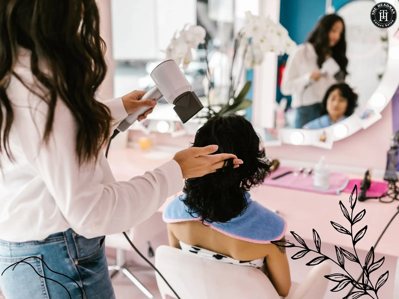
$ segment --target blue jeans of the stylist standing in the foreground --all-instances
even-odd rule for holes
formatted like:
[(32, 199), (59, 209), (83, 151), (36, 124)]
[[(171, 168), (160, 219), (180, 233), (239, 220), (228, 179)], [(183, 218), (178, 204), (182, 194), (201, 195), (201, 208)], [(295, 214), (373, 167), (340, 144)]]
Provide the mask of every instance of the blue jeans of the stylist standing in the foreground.
[[(41, 241), (0, 240), (0, 287), (4, 296), (7, 299), (115, 299), (104, 239), (86, 239), (69, 229)], [(6, 269), (22, 260), (24, 262), (14, 265), (15, 269), (14, 266)]]

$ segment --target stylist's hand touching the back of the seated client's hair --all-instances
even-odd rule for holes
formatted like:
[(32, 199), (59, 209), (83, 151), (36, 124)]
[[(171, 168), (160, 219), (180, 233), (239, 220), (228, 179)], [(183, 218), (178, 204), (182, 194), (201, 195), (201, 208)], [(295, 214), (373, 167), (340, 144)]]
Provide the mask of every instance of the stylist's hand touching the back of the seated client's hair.
[(217, 151), (217, 146), (206, 146), (204, 148), (188, 148), (179, 151), (173, 159), (182, 169), (183, 179), (202, 177), (208, 173), (216, 172), (224, 166), (227, 159), (234, 159), (234, 167), (237, 168), (243, 160), (237, 159), (236, 155), (230, 153), (219, 153), (210, 155)]

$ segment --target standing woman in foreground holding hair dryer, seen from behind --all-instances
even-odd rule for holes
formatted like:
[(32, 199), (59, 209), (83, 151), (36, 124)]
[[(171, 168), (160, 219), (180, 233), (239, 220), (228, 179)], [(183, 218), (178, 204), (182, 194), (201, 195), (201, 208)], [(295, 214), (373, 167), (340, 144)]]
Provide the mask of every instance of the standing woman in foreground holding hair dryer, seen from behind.
[[(0, 1), (0, 287), (6, 298), (115, 298), (104, 236), (149, 218), (182, 189), (183, 179), (215, 172), (225, 159), (242, 163), (231, 154), (207, 155), (213, 146), (191, 148), (116, 182), (103, 147), (128, 113), (153, 104), (137, 101), (144, 94), (137, 91), (105, 104), (95, 99), (106, 73), (104, 46), (95, 0)], [(30, 256), (44, 262), (30, 258), (6, 269)]]

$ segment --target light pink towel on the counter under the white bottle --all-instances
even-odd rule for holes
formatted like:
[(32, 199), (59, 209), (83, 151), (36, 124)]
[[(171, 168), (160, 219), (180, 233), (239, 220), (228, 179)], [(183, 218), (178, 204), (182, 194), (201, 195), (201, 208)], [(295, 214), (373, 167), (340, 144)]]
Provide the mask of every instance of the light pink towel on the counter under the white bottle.
[[(286, 173), (287, 171), (292, 171), (293, 173), (285, 175), (284, 177), (280, 177), (279, 179), (273, 180), (273, 177), (277, 177), (283, 173)], [(274, 171), (269, 177), (265, 179), (263, 185), (296, 189), (300, 191), (316, 192), (322, 194), (338, 195), (342, 192), (342, 190), (346, 188), (346, 186), (348, 186), (349, 182), (349, 178), (346, 175), (342, 173), (332, 172), (330, 173), (330, 188), (328, 188), (327, 190), (318, 190), (314, 187), (312, 175), (304, 177), (303, 173), (300, 173), (298, 176), (294, 176), (295, 171), (296, 168), (294, 167), (280, 166), (276, 171)]]

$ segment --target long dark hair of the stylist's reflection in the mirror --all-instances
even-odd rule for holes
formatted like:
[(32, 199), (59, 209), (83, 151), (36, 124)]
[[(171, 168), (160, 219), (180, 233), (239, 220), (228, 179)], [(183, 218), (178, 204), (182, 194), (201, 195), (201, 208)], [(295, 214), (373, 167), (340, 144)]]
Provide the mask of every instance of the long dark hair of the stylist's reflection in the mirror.
[[(328, 33), (335, 22), (342, 22), (344, 29), (341, 33), (341, 38), (334, 47), (330, 47), (330, 40)], [(317, 54), (317, 64), (322, 67), (328, 54), (338, 63), (344, 75), (348, 75), (346, 67), (348, 66), (348, 58), (346, 57), (346, 40), (345, 40), (345, 23), (344, 20), (337, 14), (328, 14), (321, 18), (316, 27), (308, 36), (308, 42), (314, 45)]]

